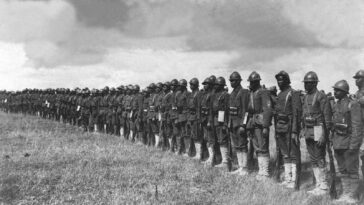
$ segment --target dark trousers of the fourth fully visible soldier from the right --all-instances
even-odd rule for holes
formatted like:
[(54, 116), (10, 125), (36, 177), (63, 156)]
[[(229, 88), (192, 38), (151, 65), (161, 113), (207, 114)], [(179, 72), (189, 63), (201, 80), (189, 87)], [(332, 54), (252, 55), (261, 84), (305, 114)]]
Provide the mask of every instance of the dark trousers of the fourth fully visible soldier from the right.
[(257, 156), (269, 157), (269, 132), (266, 136), (263, 136), (263, 128), (255, 127), (251, 134)]

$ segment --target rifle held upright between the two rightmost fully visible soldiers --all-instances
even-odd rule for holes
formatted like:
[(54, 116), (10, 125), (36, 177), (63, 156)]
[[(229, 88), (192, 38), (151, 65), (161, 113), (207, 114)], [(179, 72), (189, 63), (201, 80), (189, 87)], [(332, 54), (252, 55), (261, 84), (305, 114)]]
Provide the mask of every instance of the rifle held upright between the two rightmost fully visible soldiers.
[(327, 153), (329, 155), (329, 161), (330, 161), (330, 181), (329, 181), (329, 188), (330, 188), (330, 198), (331, 199), (337, 199), (337, 191), (336, 191), (336, 184), (335, 184), (335, 179), (336, 179), (336, 170), (335, 170), (335, 164), (334, 164), (334, 157), (332, 154), (332, 150), (330, 147), (330, 138), (329, 138), (329, 130), (327, 129), (327, 125), (326, 125), (326, 121), (325, 121), (325, 116), (324, 114), (321, 112), (321, 119), (322, 119), (322, 124), (323, 124), (323, 128), (324, 128), (324, 137), (325, 137), (325, 141), (326, 141), (326, 148), (327, 148)]

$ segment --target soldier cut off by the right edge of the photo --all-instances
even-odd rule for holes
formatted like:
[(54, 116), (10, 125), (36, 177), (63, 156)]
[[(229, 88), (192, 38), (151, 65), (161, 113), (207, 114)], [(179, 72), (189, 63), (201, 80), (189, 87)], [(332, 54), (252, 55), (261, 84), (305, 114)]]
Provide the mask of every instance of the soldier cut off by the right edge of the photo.
[[(355, 84), (358, 87), (358, 91), (356, 92), (356, 98), (361, 106), (361, 121), (359, 121), (359, 125), (357, 127), (359, 128), (359, 133), (362, 137), (362, 140), (364, 139), (364, 70), (359, 70), (355, 76)], [(361, 171), (362, 176), (364, 177), (364, 142), (362, 141), (361, 147), (360, 147), (360, 159), (361, 159)]]

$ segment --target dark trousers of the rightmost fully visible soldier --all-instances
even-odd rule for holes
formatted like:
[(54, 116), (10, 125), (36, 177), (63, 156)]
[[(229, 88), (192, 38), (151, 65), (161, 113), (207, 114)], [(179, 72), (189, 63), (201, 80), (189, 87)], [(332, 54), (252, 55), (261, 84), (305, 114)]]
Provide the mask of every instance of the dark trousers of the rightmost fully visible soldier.
[(341, 174), (359, 177), (359, 150), (335, 149), (335, 159)]

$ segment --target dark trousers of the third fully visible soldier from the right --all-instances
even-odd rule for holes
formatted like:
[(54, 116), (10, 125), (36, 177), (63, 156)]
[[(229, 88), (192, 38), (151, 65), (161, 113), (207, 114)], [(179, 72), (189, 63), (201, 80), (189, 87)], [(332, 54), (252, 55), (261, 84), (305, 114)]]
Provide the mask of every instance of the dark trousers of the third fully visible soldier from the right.
[(296, 163), (298, 146), (294, 140), (292, 140), (292, 134), (290, 133), (276, 133), (277, 146), (281, 150), (284, 163)]

